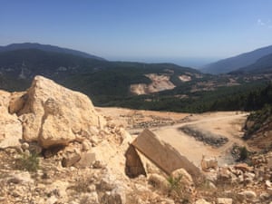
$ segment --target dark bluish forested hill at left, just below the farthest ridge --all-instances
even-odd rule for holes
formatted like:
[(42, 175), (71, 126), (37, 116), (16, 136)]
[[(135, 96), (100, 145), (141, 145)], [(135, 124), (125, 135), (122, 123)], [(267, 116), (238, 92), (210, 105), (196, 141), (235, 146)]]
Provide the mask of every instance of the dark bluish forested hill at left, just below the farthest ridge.
[(27, 80), (37, 74), (58, 79), (69, 74), (91, 72), (94, 67), (106, 66), (104, 64), (107, 61), (33, 48), (0, 52), (0, 73)]

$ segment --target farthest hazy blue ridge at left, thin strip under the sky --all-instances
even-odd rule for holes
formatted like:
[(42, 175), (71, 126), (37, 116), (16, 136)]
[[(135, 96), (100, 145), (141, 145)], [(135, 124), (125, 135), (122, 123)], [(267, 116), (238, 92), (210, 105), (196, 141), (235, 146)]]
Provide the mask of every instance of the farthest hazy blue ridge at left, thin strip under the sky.
[(102, 57), (92, 55), (90, 53), (83, 53), (81, 51), (76, 51), (72, 49), (62, 48), (58, 46), (53, 46), (50, 44), (33, 44), (33, 43), (24, 43), (24, 44), (9, 44), (6, 46), (0, 46), (0, 53), (6, 51), (15, 51), (22, 49), (37, 49), (46, 52), (55, 52), (55, 53), (70, 53), (76, 56), (81, 56), (85, 58), (91, 58), (96, 60), (105, 60)]

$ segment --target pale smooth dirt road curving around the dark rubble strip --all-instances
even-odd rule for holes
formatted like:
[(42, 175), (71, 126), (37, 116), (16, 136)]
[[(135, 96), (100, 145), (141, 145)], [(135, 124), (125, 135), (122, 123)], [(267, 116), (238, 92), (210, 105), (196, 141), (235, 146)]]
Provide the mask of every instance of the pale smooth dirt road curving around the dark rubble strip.
[[(217, 157), (219, 164), (233, 162), (230, 156), (230, 149), (234, 143), (240, 146), (246, 146), (246, 143), (240, 139), (242, 136), (242, 125), (246, 119), (247, 113), (236, 114), (235, 112), (210, 113), (199, 115), (197, 121), (189, 121), (168, 127), (160, 127), (153, 130), (162, 141), (170, 143), (174, 148), (185, 155), (197, 166), (200, 164), (202, 155), (207, 157)], [(196, 141), (193, 137), (180, 131), (179, 128), (185, 125), (194, 125), (199, 130), (210, 131), (228, 138), (228, 142), (219, 148), (213, 148), (202, 141)]]

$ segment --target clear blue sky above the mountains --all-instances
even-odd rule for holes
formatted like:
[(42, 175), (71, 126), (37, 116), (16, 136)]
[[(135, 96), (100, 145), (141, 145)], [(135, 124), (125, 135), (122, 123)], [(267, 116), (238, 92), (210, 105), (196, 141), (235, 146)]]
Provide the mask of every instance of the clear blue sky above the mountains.
[(0, 0), (0, 45), (200, 66), (272, 44), (271, 0)]

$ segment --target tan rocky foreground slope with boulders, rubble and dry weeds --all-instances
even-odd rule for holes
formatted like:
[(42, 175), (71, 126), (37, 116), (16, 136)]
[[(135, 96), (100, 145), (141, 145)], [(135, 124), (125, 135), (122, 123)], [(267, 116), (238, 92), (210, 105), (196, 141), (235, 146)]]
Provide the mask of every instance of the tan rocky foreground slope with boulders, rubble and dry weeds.
[(203, 158), (195, 170), (156, 137), (135, 148), (87, 96), (42, 76), (25, 92), (0, 91), (0, 112), (0, 203), (272, 203), (271, 152), (250, 166)]

